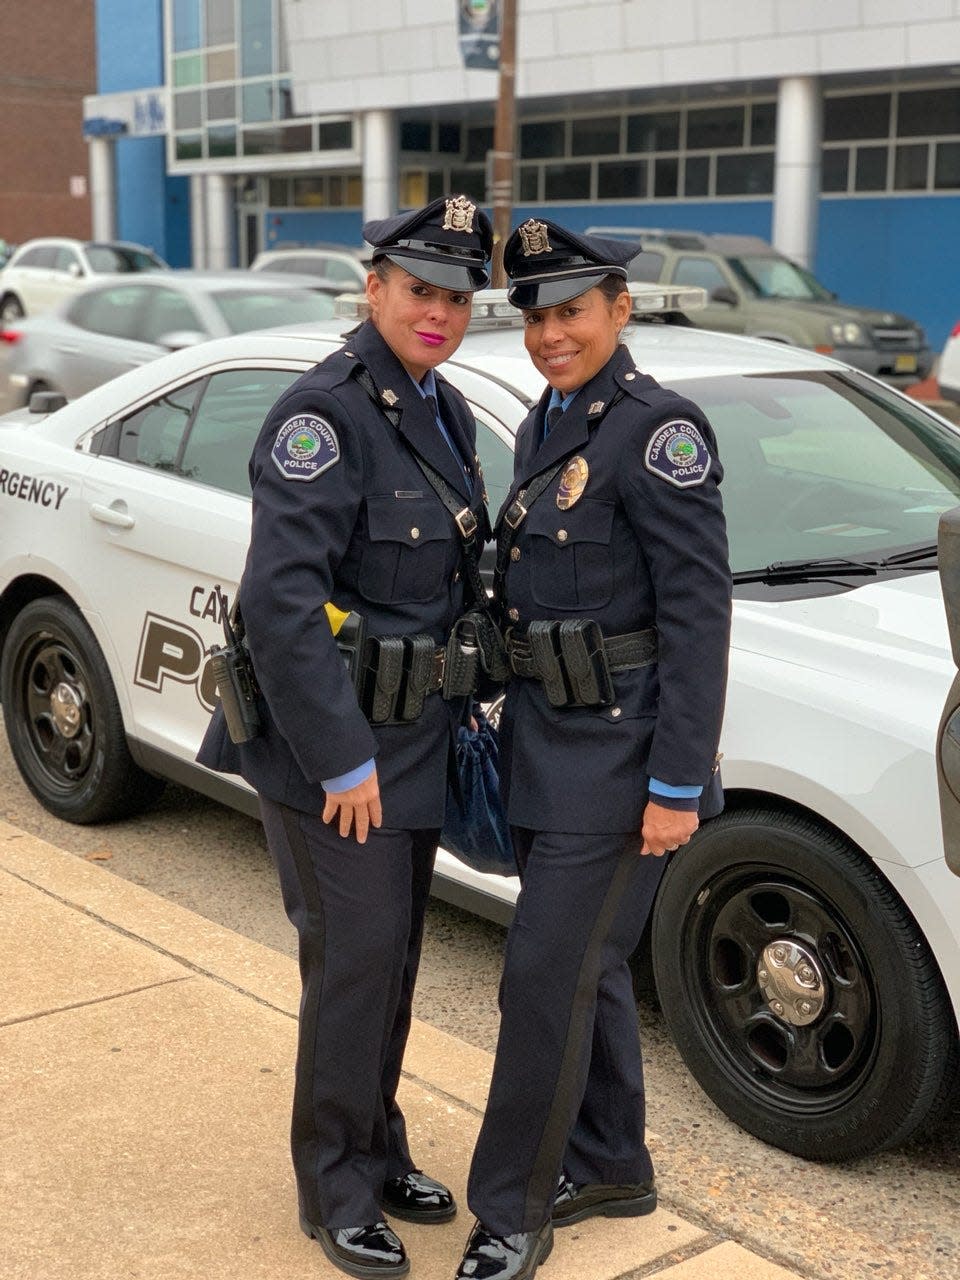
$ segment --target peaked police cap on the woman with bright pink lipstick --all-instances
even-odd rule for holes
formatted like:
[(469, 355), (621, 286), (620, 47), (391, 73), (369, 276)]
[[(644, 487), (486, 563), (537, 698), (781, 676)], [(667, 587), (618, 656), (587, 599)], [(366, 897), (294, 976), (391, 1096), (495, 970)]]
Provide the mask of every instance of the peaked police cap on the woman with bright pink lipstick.
[(374, 261), (389, 257), (419, 280), (442, 289), (483, 289), (493, 250), (486, 214), (466, 196), (442, 196), (412, 214), (365, 223)]

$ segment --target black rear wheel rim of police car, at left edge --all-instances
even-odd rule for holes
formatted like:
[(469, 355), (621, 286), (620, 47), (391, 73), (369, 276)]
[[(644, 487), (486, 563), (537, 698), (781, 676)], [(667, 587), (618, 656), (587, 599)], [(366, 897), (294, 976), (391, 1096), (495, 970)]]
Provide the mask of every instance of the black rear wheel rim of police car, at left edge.
[(60, 795), (79, 790), (96, 749), (90, 680), (60, 637), (42, 632), (20, 650), (15, 671), (19, 707), (33, 772)]

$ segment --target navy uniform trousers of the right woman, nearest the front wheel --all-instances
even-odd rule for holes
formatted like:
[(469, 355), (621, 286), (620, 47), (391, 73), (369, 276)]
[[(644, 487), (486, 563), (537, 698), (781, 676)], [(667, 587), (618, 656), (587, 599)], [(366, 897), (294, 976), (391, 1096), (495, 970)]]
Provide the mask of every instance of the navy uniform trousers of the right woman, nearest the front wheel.
[(653, 1174), (627, 957), (666, 864), (640, 856), (636, 831), (512, 831), (522, 890), (467, 1187), (471, 1211), (495, 1235), (543, 1225), (561, 1167), (577, 1184)]

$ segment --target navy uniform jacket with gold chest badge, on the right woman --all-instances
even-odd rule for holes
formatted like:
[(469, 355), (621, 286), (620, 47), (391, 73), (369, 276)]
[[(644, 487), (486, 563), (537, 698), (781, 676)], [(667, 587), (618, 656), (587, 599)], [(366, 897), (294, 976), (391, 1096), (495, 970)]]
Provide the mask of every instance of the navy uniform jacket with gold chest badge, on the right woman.
[(568, 509), (557, 504), (561, 475), (531, 504), (507, 562), (504, 622), (520, 635), (536, 618), (595, 618), (604, 635), (655, 627), (659, 657), (614, 675), (613, 707), (552, 708), (539, 681), (511, 680), (500, 721), (508, 819), (534, 831), (639, 829), (650, 777), (703, 785), (700, 815), (710, 817), (731, 600), (713, 431), (695, 404), (637, 372), (626, 347), (540, 444), (548, 401), (549, 389), (520, 428), (504, 509), (561, 460), (579, 456), (589, 475)]

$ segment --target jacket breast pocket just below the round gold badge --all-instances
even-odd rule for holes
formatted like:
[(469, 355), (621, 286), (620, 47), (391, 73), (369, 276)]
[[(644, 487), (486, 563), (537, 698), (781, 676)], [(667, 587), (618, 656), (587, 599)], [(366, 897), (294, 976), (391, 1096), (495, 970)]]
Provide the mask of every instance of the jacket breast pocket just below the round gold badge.
[(581, 498), (568, 511), (547, 500), (535, 503), (527, 531), (536, 603), (553, 609), (608, 604), (613, 594), (612, 529), (612, 502)]

